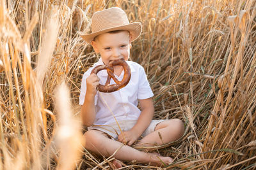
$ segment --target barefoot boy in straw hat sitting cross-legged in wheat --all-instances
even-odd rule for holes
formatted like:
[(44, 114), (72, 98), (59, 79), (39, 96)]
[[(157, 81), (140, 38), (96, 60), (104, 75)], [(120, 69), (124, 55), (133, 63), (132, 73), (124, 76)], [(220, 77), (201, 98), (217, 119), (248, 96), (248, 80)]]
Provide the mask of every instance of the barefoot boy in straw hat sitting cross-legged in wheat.
[[(97, 91), (97, 85), (104, 84), (107, 80), (106, 70), (96, 75), (91, 74), (91, 67), (84, 73), (81, 83), (81, 118), (83, 124), (88, 127), (84, 134), (85, 148), (105, 157), (115, 153), (116, 160), (113, 164), (116, 167), (122, 167), (118, 160), (136, 160), (156, 166), (170, 164), (170, 157), (141, 152), (131, 145), (162, 145), (175, 141), (184, 134), (184, 124), (179, 119), (152, 120), (153, 93), (145, 71), (140, 64), (127, 61), (131, 42), (140, 34), (140, 22), (130, 24), (123, 10), (109, 8), (94, 13), (92, 33), (82, 35), (95, 52), (100, 53), (100, 59), (93, 67), (108, 64), (111, 60), (124, 59), (131, 68), (131, 80), (124, 88), (115, 92)], [(118, 80), (122, 80), (123, 67), (114, 66), (114, 74)], [(137, 107), (138, 103), (141, 110)]]

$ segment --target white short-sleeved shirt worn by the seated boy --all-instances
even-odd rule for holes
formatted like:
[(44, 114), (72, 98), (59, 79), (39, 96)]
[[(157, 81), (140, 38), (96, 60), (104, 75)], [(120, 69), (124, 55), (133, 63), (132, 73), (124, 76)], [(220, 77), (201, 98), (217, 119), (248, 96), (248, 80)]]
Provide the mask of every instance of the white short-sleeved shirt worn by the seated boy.
[[(93, 67), (90, 67), (90, 69), (83, 74), (79, 104), (83, 105), (84, 103), (86, 78), (90, 76), (91, 71), (95, 66), (101, 64), (103, 64), (103, 62), (100, 58), (98, 62), (93, 64)], [(144, 68), (140, 66), (140, 64), (132, 61), (127, 61), (127, 64), (129, 64), (131, 68), (131, 80), (124, 88), (111, 93), (97, 92), (95, 95), (96, 118), (93, 123), (94, 125), (108, 125), (115, 122), (115, 118), (111, 111), (115, 115), (116, 120), (137, 120), (141, 112), (137, 107), (138, 99), (148, 99), (154, 96)], [(104, 85), (108, 77), (106, 69), (99, 71), (97, 75), (100, 78), (100, 84)], [(116, 76), (116, 78), (121, 81), (123, 76), (124, 70), (120, 76)], [(115, 81), (111, 79), (110, 84), (113, 83), (115, 83)], [(105, 102), (108, 106), (106, 106)]]

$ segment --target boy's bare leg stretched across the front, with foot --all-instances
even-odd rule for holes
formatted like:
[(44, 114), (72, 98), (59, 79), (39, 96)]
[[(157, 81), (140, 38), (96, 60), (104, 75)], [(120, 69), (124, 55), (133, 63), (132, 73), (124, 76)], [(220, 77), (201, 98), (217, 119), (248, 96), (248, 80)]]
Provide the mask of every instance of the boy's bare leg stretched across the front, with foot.
[(150, 163), (155, 166), (162, 166), (172, 162), (170, 157), (162, 157), (153, 153), (141, 152), (124, 145), (118, 141), (109, 139), (103, 132), (90, 130), (84, 134), (86, 145), (85, 148), (99, 155), (109, 157), (115, 153), (114, 157), (119, 160), (132, 161), (136, 160), (140, 163)]

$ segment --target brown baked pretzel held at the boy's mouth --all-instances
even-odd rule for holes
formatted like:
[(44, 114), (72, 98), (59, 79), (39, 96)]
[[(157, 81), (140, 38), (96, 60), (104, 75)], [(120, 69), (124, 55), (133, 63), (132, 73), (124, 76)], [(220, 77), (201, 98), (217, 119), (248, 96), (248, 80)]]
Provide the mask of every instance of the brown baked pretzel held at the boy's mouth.
[[(118, 81), (114, 75), (113, 66), (117, 66), (117, 65), (120, 65), (124, 68), (124, 77), (122, 81)], [(92, 73), (97, 74), (99, 71), (103, 69), (107, 70), (108, 78), (105, 85), (100, 85), (100, 84), (98, 85), (97, 88), (100, 92), (108, 92), (108, 93), (115, 92), (116, 90), (119, 90), (125, 87), (125, 85), (127, 85), (131, 79), (131, 69), (124, 59), (112, 60), (109, 62), (108, 65), (96, 66), (92, 69), (91, 74)], [(113, 78), (116, 84), (109, 85), (111, 78)]]

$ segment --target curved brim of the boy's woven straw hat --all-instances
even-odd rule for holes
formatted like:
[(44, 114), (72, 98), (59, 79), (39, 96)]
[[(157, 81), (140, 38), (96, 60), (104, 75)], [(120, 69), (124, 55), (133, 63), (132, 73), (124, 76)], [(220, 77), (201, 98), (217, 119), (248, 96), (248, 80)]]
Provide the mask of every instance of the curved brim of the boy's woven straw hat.
[(142, 25), (140, 22), (133, 22), (131, 24), (128, 25), (122, 25), (120, 27), (111, 27), (108, 29), (104, 29), (98, 32), (93, 32), (91, 34), (81, 34), (80, 36), (87, 42), (87, 43), (91, 43), (92, 40), (96, 37), (99, 36), (100, 34), (104, 34), (106, 32), (110, 32), (110, 31), (116, 31), (116, 30), (127, 30), (129, 32), (131, 32), (131, 41), (134, 41), (135, 39), (137, 39), (140, 34), (141, 34), (141, 30), (142, 30)]

